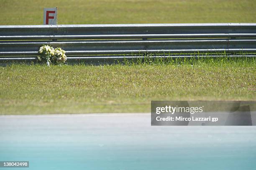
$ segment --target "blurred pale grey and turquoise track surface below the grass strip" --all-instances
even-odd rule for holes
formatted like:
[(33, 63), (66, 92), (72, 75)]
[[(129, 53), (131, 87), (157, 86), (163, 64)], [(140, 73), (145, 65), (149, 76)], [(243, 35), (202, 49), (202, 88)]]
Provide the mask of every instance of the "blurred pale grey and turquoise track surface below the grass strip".
[(256, 170), (255, 160), (256, 126), (151, 126), (150, 114), (0, 116), (0, 161), (29, 161), (15, 170)]

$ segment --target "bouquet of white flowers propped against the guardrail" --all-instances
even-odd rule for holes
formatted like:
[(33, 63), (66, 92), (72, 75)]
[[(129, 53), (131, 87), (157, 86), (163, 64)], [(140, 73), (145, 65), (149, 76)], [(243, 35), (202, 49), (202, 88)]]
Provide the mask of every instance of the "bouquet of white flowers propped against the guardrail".
[(67, 56), (65, 51), (61, 48), (53, 48), (48, 45), (41, 46), (39, 48), (40, 56), (38, 56), (39, 61), (46, 61), (47, 66), (50, 66), (50, 63), (64, 63), (67, 61)]

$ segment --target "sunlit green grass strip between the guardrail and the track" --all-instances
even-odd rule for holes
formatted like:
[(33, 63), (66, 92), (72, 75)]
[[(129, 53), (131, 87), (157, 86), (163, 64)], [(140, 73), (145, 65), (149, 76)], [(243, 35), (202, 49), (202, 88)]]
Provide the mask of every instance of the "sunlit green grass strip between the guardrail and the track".
[(255, 58), (158, 63), (0, 67), (0, 114), (150, 112), (151, 100), (256, 99)]

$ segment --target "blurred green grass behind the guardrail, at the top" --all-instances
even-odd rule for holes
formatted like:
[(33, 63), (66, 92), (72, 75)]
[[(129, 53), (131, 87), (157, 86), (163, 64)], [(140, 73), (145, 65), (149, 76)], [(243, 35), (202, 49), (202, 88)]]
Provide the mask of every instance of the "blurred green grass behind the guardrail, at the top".
[(256, 22), (255, 0), (1, 0), (0, 25), (42, 24), (46, 7), (59, 24)]

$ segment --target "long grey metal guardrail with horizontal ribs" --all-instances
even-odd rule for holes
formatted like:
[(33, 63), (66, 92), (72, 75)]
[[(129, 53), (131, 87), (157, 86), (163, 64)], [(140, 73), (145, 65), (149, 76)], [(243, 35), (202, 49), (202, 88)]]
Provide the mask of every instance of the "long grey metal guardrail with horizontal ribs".
[(79, 60), (149, 53), (250, 57), (256, 53), (256, 23), (0, 25), (0, 61), (36, 60), (38, 49), (46, 44)]

